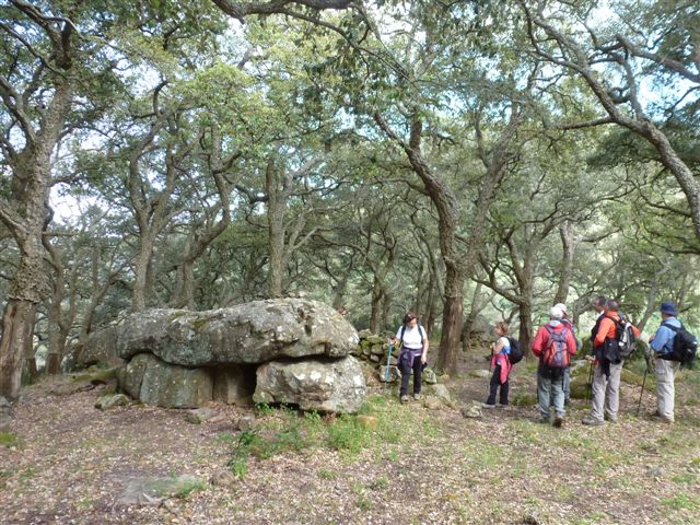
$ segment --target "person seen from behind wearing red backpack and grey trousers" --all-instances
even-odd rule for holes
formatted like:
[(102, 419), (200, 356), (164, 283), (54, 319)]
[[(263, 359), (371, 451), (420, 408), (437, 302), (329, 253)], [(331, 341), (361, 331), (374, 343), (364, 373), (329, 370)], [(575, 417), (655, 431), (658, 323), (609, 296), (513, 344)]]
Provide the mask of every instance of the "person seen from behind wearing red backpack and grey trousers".
[(564, 369), (571, 363), (571, 355), (576, 352), (576, 340), (573, 331), (563, 323), (564, 314), (558, 306), (549, 311), (549, 322), (540, 326), (533, 339), (533, 353), (539, 358), (537, 366), (537, 399), (541, 413), (540, 422), (549, 423), (550, 405), (555, 407), (555, 427), (563, 424)]

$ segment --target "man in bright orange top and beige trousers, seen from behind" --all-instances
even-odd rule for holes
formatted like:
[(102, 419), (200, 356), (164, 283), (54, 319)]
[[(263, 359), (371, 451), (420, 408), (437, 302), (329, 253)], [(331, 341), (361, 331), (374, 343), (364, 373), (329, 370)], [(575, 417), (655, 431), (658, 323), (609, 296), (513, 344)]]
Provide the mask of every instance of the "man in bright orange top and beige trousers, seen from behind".
[[(599, 427), (605, 420), (617, 422), (617, 413), (620, 406), (620, 375), (625, 360), (620, 355), (618, 340), (619, 326), (625, 320), (625, 315), (618, 312), (616, 301), (608, 300), (596, 327), (593, 337), (594, 372), (591, 390), (593, 392), (593, 405), (591, 415), (585, 416), (581, 422), (587, 425)], [(635, 338), (640, 330), (630, 324)], [(593, 335), (593, 332), (592, 332)]]

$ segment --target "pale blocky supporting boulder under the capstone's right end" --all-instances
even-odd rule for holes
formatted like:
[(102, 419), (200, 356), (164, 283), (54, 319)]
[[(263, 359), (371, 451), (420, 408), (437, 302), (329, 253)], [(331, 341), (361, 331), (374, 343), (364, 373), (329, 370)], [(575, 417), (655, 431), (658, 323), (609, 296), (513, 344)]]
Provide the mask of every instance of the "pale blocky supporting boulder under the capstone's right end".
[(284, 402), (303, 410), (354, 413), (366, 384), (357, 359), (271, 361), (257, 371), (255, 402)]

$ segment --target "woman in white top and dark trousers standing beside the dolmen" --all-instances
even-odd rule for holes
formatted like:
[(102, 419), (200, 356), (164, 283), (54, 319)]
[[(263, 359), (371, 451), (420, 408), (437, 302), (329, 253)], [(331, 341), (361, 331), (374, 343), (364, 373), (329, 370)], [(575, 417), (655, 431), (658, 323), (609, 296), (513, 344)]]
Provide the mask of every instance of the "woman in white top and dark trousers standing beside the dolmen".
[(398, 357), (398, 370), (401, 372), (400, 400), (408, 401), (408, 378), (411, 369), (413, 370), (413, 399), (418, 400), (420, 399), (420, 376), (428, 362), (428, 337), (418, 323), (418, 317), (408, 312), (392, 342), (395, 346), (400, 345), (401, 348)]

